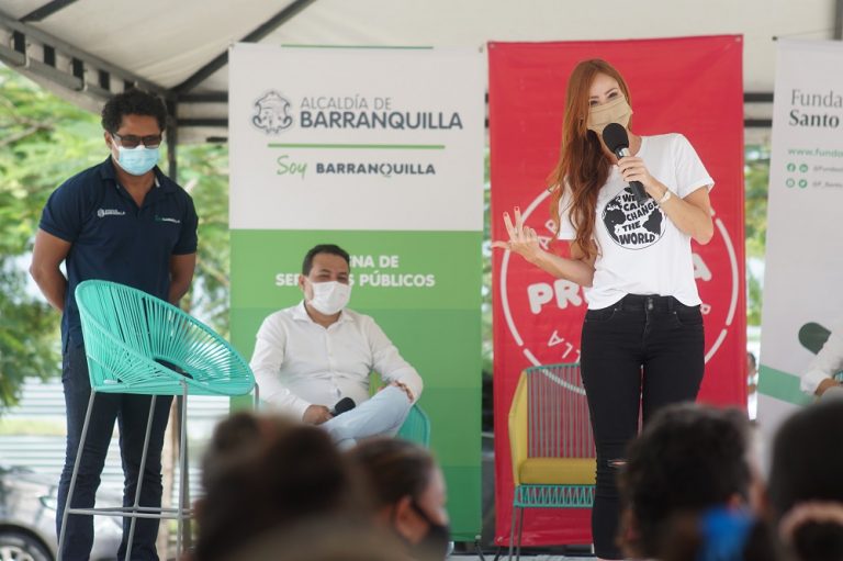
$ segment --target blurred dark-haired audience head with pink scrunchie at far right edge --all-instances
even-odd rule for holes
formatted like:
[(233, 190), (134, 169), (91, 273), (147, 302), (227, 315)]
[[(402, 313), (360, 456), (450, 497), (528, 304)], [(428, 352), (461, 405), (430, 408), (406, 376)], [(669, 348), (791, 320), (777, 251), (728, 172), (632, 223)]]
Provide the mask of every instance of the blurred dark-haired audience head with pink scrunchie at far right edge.
[(843, 559), (843, 400), (788, 418), (773, 444), (768, 482), (780, 538), (800, 561)]

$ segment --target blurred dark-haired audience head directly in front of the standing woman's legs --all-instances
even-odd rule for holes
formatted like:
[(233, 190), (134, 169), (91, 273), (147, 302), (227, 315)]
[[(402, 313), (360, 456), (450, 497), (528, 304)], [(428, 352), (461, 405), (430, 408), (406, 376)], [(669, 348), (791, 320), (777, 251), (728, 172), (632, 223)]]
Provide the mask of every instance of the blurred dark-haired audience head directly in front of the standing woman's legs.
[(630, 444), (620, 474), (625, 552), (657, 558), (677, 516), (748, 505), (750, 442), (745, 412), (686, 403), (656, 413)]

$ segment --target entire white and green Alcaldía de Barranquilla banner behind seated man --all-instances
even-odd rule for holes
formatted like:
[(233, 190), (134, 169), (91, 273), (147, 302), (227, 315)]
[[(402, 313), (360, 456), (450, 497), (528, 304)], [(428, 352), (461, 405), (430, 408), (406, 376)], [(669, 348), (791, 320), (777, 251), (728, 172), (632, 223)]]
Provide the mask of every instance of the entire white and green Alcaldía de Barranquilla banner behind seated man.
[(301, 300), (316, 244), (350, 307), (425, 381), (454, 539), (480, 529), (484, 59), (477, 51), (237, 44), (229, 53), (232, 337)]

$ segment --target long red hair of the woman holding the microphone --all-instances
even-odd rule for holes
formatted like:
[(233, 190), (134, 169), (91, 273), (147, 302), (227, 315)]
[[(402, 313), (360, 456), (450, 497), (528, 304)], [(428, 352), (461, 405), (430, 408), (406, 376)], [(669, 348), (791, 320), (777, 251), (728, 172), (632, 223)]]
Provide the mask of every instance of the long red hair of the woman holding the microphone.
[(631, 104), (626, 80), (606, 60), (583, 60), (571, 72), (565, 91), (565, 115), (562, 121), (562, 144), (559, 162), (551, 172), (550, 214), (559, 232), (559, 202), (569, 190), (570, 218), (576, 229), (575, 242), (586, 258), (594, 255), (594, 224), (597, 213), (597, 192), (609, 177), (611, 161), (604, 154), (600, 141), (587, 128), (588, 98), (595, 76), (605, 74), (618, 81), (627, 102)]

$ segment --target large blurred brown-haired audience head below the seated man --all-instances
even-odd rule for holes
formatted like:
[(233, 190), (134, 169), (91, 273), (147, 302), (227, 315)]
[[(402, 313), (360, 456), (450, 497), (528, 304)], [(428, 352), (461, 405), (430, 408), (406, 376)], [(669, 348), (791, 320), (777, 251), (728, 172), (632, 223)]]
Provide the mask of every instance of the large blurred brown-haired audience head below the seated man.
[(203, 461), (195, 558), (226, 559), (265, 532), (369, 512), (360, 481), (316, 427), (235, 413), (220, 423)]

